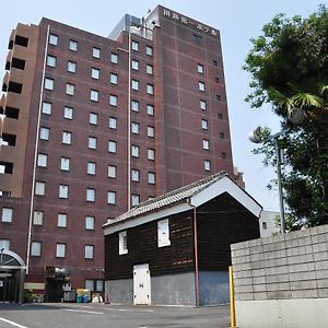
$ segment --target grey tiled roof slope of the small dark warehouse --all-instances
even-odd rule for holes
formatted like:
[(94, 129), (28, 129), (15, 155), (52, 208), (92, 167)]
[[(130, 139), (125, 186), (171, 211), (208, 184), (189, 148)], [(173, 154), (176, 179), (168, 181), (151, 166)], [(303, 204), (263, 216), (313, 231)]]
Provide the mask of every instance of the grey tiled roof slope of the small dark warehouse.
[(201, 180), (197, 180), (190, 185), (184, 186), (179, 189), (175, 189), (173, 191), (163, 194), (153, 199), (149, 199), (140, 204), (133, 207), (130, 211), (119, 215), (114, 220), (108, 220), (108, 222), (104, 225), (116, 224), (118, 222), (136, 218), (149, 212), (156, 211), (159, 209), (169, 207), (172, 204), (186, 201), (190, 197), (197, 195), (198, 192), (202, 191), (210, 185), (214, 184), (215, 181), (220, 180), (222, 177), (226, 176), (226, 172), (222, 171), (220, 173), (213, 174), (208, 176)]

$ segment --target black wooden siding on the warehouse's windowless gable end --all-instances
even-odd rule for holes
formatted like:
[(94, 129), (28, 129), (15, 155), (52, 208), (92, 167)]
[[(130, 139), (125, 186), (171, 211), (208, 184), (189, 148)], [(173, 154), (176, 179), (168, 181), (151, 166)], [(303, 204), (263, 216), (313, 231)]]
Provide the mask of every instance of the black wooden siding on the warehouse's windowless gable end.
[(259, 238), (258, 219), (224, 194), (197, 209), (199, 270), (227, 270), (230, 245)]

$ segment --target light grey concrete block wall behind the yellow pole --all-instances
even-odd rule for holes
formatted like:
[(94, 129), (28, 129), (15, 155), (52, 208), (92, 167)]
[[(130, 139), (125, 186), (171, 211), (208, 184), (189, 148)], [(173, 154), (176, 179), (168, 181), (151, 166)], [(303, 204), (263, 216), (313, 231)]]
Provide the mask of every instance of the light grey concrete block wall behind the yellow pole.
[(328, 225), (232, 245), (237, 326), (327, 327)]

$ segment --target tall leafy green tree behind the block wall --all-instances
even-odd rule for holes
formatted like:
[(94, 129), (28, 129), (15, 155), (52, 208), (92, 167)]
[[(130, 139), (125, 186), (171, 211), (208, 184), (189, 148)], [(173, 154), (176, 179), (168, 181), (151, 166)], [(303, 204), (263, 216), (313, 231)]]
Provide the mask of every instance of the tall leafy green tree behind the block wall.
[[(325, 5), (308, 17), (279, 14), (253, 38), (244, 69), (250, 73), (253, 108), (265, 103), (289, 131), (280, 140), (285, 150), (284, 198), (289, 230), (328, 223), (328, 12)], [(290, 121), (303, 108), (298, 125)], [(272, 141), (266, 139), (255, 153), (274, 165)]]

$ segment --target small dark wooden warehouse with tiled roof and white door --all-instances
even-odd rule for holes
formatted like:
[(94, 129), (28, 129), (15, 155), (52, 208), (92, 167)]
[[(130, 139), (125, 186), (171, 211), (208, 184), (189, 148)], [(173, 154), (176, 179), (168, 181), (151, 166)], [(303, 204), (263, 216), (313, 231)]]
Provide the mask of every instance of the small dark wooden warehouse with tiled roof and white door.
[(225, 173), (148, 200), (105, 225), (112, 303), (229, 302), (230, 245), (259, 237), (261, 207)]

